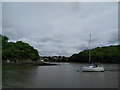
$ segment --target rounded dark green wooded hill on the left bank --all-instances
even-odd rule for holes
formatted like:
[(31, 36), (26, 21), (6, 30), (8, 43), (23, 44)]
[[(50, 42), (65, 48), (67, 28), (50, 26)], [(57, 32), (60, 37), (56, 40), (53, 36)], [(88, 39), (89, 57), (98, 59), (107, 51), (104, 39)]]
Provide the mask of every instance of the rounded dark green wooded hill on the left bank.
[(2, 38), (2, 60), (25, 60), (36, 61), (40, 58), (38, 51), (23, 41), (8, 42), (9, 38), (0, 35)]

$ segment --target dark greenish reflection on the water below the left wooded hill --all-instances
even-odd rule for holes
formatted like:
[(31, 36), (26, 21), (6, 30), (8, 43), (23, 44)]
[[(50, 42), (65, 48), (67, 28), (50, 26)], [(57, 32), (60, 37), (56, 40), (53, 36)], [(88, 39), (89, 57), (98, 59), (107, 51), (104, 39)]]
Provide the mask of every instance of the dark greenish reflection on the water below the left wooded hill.
[(32, 85), (37, 67), (6, 66), (3, 69), (3, 88), (23, 88)]

